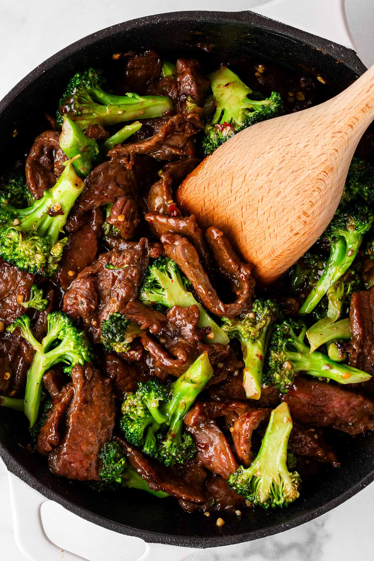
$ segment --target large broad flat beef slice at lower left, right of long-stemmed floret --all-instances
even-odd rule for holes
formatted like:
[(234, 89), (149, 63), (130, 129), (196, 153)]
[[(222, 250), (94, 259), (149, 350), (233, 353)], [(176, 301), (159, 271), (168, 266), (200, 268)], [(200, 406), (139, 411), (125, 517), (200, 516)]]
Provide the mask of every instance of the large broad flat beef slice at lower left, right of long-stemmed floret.
[(91, 364), (71, 371), (74, 397), (59, 444), (48, 458), (56, 475), (80, 481), (100, 480), (99, 453), (112, 438), (116, 412), (112, 384)]

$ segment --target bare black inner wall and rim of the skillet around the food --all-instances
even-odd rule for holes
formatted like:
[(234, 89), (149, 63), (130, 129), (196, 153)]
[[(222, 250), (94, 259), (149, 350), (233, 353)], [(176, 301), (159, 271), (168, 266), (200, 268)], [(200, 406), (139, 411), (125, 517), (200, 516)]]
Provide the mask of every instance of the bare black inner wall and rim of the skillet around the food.
[[(213, 45), (211, 52), (206, 45)], [(0, 165), (6, 167), (15, 155), (20, 157), (29, 150), (40, 132), (45, 108), (52, 111), (57, 107), (58, 94), (72, 71), (100, 66), (112, 53), (147, 48), (170, 57), (174, 53), (174, 58), (176, 54), (195, 56), (207, 63), (254, 53), (286, 66), (310, 68), (336, 90), (347, 87), (366, 70), (353, 50), (251, 12), (177, 12), (128, 21), (61, 50), (2, 100)], [(13, 137), (15, 130), (18, 134)], [(0, 455), (8, 470), (82, 518), (147, 542), (205, 548), (269, 536), (324, 514), (374, 479), (374, 434), (347, 441), (335, 436), (339, 442), (334, 446), (344, 456), (343, 465), (306, 482), (301, 499), (283, 510), (248, 509), (241, 518), (225, 513), (225, 525), (217, 528), (216, 517), (187, 514), (173, 499), (159, 500), (132, 490), (117, 498), (56, 477), (38, 454), (22, 445), (26, 434), (24, 419), (2, 408)]]

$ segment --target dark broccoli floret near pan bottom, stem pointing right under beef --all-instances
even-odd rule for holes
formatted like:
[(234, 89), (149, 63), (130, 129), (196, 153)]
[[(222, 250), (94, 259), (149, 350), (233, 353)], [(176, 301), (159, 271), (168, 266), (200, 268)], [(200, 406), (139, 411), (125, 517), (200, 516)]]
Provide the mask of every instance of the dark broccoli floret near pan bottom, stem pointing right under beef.
[(100, 471), (101, 482), (95, 483), (96, 490), (116, 490), (119, 486), (147, 491), (160, 499), (169, 496), (164, 491), (153, 491), (141, 475), (126, 461), (117, 442), (106, 442), (99, 458), (103, 460)]

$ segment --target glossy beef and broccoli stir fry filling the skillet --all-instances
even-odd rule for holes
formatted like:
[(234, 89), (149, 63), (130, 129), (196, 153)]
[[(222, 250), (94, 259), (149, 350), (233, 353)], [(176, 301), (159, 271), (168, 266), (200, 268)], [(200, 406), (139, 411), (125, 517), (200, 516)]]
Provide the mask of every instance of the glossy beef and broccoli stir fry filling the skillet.
[(325, 233), (263, 287), (175, 190), (323, 86), (151, 51), (112, 64), (115, 79), (76, 72), (49, 130), (1, 170), (0, 410), (93, 493), (207, 516), (287, 507), (339, 470), (338, 433), (374, 429), (372, 138)]

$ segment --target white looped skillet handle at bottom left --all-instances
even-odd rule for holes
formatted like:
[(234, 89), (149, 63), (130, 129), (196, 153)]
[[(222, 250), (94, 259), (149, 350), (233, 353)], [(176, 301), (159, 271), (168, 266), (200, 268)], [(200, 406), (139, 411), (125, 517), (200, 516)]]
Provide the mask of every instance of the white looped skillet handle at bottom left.
[[(38, 491), (26, 485), (9, 471), (8, 477), (15, 540), (22, 553), (31, 561), (61, 561), (61, 559), (63, 561), (86, 561), (85, 558), (71, 551), (61, 550), (45, 534), (40, 509), (43, 504), (52, 503), (52, 501), (45, 499)], [(62, 507), (58, 508), (62, 509)], [(95, 543), (95, 540), (101, 540), (102, 534), (99, 537), (95, 536), (96, 526), (91, 523), (90, 526), (92, 526), (91, 535), (84, 534), (82, 539), (87, 543), (91, 540), (92, 544)], [(193, 553), (191, 548), (146, 544), (140, 538), (133, 536), (121, 536), (121, 540), (122, 538), (122, 553), (126, 561), (155, 561), (155, 559), (161, 558), (163, 561), (183, 561)], [(110, 537), (108, 537), (109, 541)], [(195, 556), (190, 557), (191, 561), (193, 557)]]

